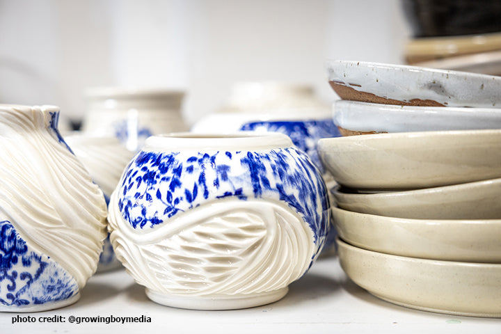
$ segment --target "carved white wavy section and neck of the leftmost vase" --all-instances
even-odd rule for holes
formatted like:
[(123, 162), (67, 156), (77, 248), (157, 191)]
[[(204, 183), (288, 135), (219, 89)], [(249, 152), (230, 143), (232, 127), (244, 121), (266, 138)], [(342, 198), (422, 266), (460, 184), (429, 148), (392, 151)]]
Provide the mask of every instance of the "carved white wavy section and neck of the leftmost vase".
[(0, 109), (0, 219), (83, 287), (106, 237), (106, 203), (58, 133), (57, 117), (38, 108)]

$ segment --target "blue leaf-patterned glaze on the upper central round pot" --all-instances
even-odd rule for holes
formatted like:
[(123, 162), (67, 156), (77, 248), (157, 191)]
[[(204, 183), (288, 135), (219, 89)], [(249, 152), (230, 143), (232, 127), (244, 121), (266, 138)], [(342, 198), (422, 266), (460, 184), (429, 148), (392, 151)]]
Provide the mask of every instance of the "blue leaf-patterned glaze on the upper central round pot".
[(154, 228), (204, 202), (233, 197), (286, 202), (308, 223), (317, 251), (328, 224), (326, 186), (303, 152), (148, 152), (136, 154), (119, 184), (118, 207), (135, 229)]

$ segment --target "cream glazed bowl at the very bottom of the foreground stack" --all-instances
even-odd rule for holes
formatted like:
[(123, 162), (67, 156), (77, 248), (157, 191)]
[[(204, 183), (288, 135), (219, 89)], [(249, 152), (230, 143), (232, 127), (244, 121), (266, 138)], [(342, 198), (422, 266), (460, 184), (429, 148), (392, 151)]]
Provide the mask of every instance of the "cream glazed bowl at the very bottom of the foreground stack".
[(450, 315), (501, 317), (501, 264), (422, 260), (337, 240), (341, 267), (385, 301)]

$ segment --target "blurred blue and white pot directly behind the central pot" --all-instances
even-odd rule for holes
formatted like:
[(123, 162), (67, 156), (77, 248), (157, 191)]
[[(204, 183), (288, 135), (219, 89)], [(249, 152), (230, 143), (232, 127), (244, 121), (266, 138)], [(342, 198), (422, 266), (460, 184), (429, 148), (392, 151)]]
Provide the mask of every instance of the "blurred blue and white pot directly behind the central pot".
[[(191, 131), (286, 134), (296, 148), (308, 154), (321, 170), (328, 189), (336, 185), (332, 175), (321, 165), (317, 143), (321, 138), (339, 137), (341, 134), (333, 122), (331, 108), (317, 100), (309, 86), (273, 82), (237, 84), (225, 106), (198, 120)], [(324, 255), (335, 253), (335, 236), (332, 229)]]

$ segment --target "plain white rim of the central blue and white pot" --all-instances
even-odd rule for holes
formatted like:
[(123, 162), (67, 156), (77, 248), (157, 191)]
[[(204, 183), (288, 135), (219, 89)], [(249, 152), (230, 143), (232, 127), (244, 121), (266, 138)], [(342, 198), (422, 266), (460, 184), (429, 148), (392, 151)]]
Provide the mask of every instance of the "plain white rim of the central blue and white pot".
[(151, 136), (146, 139), (143, 151), (272, 150), (292, 146), (294, 144), (288, 136), (275, 132), (177, 132)]

